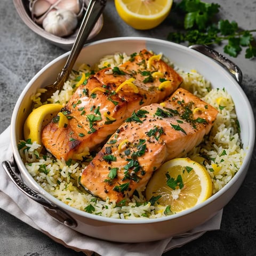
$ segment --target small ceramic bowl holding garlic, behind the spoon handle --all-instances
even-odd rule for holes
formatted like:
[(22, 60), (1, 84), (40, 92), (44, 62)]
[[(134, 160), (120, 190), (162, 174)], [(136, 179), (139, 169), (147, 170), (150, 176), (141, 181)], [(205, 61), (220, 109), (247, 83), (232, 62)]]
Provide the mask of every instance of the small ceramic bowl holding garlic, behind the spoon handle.
[[(85, 3), (88, 3), (89, 1), (84, 0)], [(32, 19), (31, 19), (31, 13), (29, 11), (29, 1), (28, 0), (13, 0), (15, 9), (17, 10), (20, 18), (22, 21), (31, 29), (33, 30), (37, 35), (42, 36), (47, 41), (51, 42), (54, 45), (57, 45), (65, 50), (70, 50), (73, 46), (76, 35), (78, 32), (78, 28), (76, 29), (75, 33), (67, 36), (67, 37), (59, 37), (50, 34), (49, 32), (45, 31), (41, 26), (37, 25)], [(97, 36), (102, 29), (103, 26), (103, 15), (100, 16), (98, 21), (95, 23), (95, 26), (93, 27), (89, 37), (87, 40), (92, 39), (94, 36)]]

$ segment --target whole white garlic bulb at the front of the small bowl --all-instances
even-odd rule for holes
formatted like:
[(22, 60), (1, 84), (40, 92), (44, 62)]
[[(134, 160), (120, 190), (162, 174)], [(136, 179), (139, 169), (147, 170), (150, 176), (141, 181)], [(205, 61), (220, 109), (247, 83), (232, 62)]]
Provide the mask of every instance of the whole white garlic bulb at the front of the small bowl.
[(65, 9), (49, 12), (43, 20), (43, 28), (55, 36), (68, 36), (77, 26), (76, 15)]

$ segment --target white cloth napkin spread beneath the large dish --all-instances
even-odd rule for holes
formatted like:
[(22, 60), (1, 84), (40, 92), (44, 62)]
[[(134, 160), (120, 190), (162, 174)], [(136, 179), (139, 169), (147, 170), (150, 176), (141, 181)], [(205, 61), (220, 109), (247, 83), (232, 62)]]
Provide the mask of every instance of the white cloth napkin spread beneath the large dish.
[(114, 243), (85, 236), (55, 221), (43, 207), (23, 194), (10, 181), (3, 170), (2, 162), (12, 157), (10, 145), (10, 127), (0, 135), (0, 207), (28, 225), (42, 231), (55, 242), (75, 251), (82, 251), (87, 256), (96, 252), (102, 256), (132, 255), (161, 256), (162, 253), (181, 247), (202, 236), (206, 231), (220, 229), (222, 210), (203, 225), (177, 237), (149, 243)]

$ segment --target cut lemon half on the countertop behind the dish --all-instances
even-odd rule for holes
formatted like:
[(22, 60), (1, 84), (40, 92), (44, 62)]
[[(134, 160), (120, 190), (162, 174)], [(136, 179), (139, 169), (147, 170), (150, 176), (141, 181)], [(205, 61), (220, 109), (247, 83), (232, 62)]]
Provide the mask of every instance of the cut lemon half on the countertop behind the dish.
[(135, 29), (157, 27), (169, 14), (172, 0), (115, 0), (119, 16)]

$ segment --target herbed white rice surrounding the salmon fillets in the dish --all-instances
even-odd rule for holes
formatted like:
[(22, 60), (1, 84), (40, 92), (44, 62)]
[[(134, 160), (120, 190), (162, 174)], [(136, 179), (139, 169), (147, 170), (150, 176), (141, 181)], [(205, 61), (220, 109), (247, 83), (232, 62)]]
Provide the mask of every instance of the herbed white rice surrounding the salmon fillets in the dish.
[[(82, 73), (88, 77), (92, 70), (107, 66), (115, 67), (128, 59), (129, 56), (125, 53), (115, 54), (102, 58), (95, 67), (82, 65), (78, 71), (73, 71), (63, 90), (60, 93), (58, 91), (54, 93), (52, 103), (65, 104), (75, 91), (76, 85), (79, 84)], [(211, 175), (213, 194), (215, 194), (234, 177), (245, 156), (239, 138), (239, 124), (235, 106), (225, 87), (212, 89), (210, 82), (206, 81), (196, 70), (190, 70), (187, 73), (177, 67), (174, 68), (183, 77), (181, 87), (193, 92), (219, 110), (210, 134), (199, 146), (187, 154), (187, 157), (206, 167)], [(38, 95), (35, 95), (33, 100), (37, 101)], [(37, 102), (39, 105), (39, 101)], [(99, 198), (82, 190), (79, 185), (79, 177), (81, 177), (81, 171), (86, 166), (86, 162), (66, 163), (55, 159), (50, 153), (38, 154), (36, 151), (38, 147), (40, 145), (35, 142), (27, 143), (25, 147), (20, 149), (20, 155), (28, 172), (39, 185), (63, 203), (78, 210), (117, 219), (151, 219), (166, 215), (166, 206), (150, 205), (140, 192), (133, 196), (128, 205), (116, 205), (108, 201), (100, 201)]]

